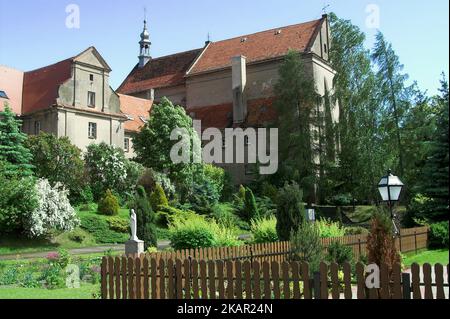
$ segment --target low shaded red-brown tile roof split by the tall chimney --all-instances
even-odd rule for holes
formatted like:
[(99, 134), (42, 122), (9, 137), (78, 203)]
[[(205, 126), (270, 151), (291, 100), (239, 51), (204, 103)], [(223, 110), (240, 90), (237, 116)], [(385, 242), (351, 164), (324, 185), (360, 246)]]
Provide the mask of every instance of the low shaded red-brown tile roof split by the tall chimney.
[[(275, 123), (277, 112), (273, 102), (272, 97), (247, 101), (247, 119), (241, 126), (262, 127)], [(202, 121), (202, 129), (233, 127), (233, 103), (190, 108), (186, 112), (192, 114), (194, 119)]]

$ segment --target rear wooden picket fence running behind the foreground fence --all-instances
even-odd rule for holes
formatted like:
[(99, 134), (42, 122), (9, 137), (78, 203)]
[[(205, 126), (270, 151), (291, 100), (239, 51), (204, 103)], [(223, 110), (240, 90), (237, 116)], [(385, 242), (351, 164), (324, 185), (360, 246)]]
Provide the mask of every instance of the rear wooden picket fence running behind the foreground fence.
[[(349, 235), (336, 238), (322, 238), (322, 245), (326, 249), (332, 242), (350, 246), (353, 255), (359, 259), (367, 255), (367, 235)], [(400, 237), (396, 239), (397, 249), (401, 252), (417, 251), (427, 247), (428, 227), (416, 227), (400, 230)], [(156, 252), (149, 254), (157, 262), (163, 260), (176, 260), (194, 258), (198, 260), (249, 260), (250, 262), (288, 261), (291, 254), (290, 242), (275, 242), (264, 244), (243, 245), (238, 247), (210, 247), (198, 249), (184, 249), (175, 252)]]

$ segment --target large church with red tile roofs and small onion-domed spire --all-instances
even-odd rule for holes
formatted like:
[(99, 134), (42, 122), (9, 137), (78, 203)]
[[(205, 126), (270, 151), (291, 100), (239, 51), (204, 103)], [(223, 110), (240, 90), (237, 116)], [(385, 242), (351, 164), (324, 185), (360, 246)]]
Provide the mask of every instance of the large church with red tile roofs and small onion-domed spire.
[[(273, 123), (277, 118), (274, 85), (289, 50), (301, 53), (305, 72), (314, 81), (317, 93), (322, 97), (326, 91), (332, 94), (335, 71), (329, 63), (327, 15), (232, 39), (207, 41), (202, 48), (159, 58), (150, 55), (150, 33), (144, 22), (139, 45), (139, 61), (117, 91), (154, 103), (167, 97), (183, 106), (192, 118), (201, 120), (202, 129), (256, 128)], [(136, 118), (138, 111), (134, 111), (130, 115)], [(332, 105), (332, 119), (337, 122), (338, 118), (338, 107)], [(133, 132), (126, 134), (132, 141)], [(223, 166), (236, 183), (245, 183), (253, 175), (249, 164)]]

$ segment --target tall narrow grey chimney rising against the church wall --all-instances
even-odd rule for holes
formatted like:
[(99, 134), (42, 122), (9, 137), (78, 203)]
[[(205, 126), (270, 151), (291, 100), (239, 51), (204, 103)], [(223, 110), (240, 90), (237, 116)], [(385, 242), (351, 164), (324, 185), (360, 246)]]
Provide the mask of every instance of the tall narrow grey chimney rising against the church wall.
[(247, 85), (247, 58), (243, 55), (231, 58), (231, 78), (233, 90), (233, 122), (242, 123), (247, 117), (245, 87)]

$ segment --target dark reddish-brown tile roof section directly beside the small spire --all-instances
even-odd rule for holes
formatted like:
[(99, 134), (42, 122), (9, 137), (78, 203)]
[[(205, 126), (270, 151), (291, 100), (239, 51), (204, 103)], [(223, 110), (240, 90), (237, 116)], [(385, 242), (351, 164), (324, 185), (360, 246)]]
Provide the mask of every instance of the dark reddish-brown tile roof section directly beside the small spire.
[(136, 65), (117, 92), (133, 94), (184, 84), (186, 71), (201, 51), (202, 49), (196, 49), (152, 59), (141, 69)]

